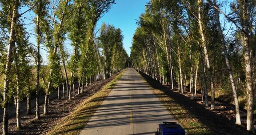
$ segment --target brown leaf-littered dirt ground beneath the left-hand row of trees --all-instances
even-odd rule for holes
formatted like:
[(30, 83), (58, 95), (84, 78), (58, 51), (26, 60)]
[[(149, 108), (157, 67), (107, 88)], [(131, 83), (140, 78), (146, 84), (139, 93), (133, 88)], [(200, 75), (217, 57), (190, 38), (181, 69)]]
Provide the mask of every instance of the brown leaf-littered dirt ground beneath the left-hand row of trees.
[[(119, 72), (120, 73), (120, 72)], [(117, 73), (116, 75), (118, 75)], [(69, 115), (76, 107), (79, 107), (80, 103), (85, 101), (88, 97), (99, 91), (104, 85), (110, 82), (116, 77), (112, 75), (111, 78), (103, 81), (98, 81), (94, 84), (89, 84), (84, 87), (84, 93), (77, 95), (77, 90), (72, 93), (72, 100), (68, 100), (68, 97), (58, 99), (52, 99), (51, 105), (48, 109), (48, 115), (40, 115), (40, 120), (35, 120), (35, 108), (32, 108), (33, 115), (22, 115), (20, 130), (16, 129), (16, 119), (9, 119), (8, 130), (10, 135), (42, 135), (54, 127), (61, 119)], [(25, 106), (22, 106), (25, 107)], [(22, 108), (21, 107), (21, 108)], [(40, 112), (44, 110), (44, 104), (40, 105)], [(2, 124), (2, 123), (1, 123)], [(0, 129), (2, 132), (2, 128)]]

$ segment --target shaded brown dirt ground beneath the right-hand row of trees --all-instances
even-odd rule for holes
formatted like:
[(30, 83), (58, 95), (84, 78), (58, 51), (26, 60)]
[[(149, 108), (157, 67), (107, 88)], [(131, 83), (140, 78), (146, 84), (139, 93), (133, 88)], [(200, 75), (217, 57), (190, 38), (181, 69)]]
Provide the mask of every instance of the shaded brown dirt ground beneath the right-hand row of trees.
[[(211, 111), (210, 105), (209, 107), (205, 107), (200, 94), (197, 94), (195, 99), (191, 99), (191, 93), (188, 87), (186, 89), (187, 91), (181, 94), (177, 88), (171, 90), (169, 86), (160, 84), (148, 75), (144, 73), (140, 74), (153, 88), (163, 91), (166, 95), (174, 99), (175, 102), (187, 109), (190, 114), (196, 116), (205, 127), (212, 131), (212, 135), (252, 135), (246, 131), (245, 110), (240, 111), (242, 125), (236, 125), (235, 108), (233, 104), (224, 103), (216, 99), (216, 109)], [(210, 104), (210, 97), (208, 99)], [(256, 120), (254, 123), (256, 123)], [(256, 128), (256, 124), (254, 127)]]

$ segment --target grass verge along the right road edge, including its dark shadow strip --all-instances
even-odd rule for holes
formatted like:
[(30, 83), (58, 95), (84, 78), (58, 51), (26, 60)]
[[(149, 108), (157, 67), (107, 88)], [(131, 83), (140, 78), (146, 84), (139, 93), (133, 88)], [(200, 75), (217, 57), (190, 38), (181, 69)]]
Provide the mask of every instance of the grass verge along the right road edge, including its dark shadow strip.
[(218, 109), (211, 111), (196, 99), (192, 100), (189, 96), (177, 92), (176, 89), (170, 90), (169, 87), (161, 85), (148, 75), (143, 73), (141, 75), (188, 135), (252, 135), (226, 115), (216, 113)]

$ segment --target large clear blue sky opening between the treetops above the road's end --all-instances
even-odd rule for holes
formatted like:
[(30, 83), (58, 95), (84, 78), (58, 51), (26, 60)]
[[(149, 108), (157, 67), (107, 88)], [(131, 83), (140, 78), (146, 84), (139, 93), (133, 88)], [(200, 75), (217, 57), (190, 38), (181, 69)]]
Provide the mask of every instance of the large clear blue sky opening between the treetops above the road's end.
[(103, 22), (120, 28), (124, 35), (124, 48), (130, 56), (132, 37), (137, 28), (136, 20), (144, 12), (147, 2), (149, 0), (116, 0), (116, 4), (113, 4), (112, 8), (98, 21), (96, 30)]

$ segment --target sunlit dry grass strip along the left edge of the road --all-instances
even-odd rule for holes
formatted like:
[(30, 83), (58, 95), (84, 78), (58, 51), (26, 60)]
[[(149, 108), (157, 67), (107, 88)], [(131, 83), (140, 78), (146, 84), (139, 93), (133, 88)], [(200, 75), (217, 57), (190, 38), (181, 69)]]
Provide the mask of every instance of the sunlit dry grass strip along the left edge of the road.
[[(87, 124), (89, 119), (95, 113), (100, 104), (104, 101), (104, 98), (110, 93), (112, 87), (121, 78), (124, 71), (116, 76), (111, 82), (106, 84), (100, 91), (88, 98), (84, 103), (81, 103), (80, 107), (77, 107), (70, 115), (65, 117), (60, 123), (58, 123), (51, 131), (48, 131), (47, 135), (78, 135), (80, 131)], [(101, 100), (93, 100), (101, 99)]]

